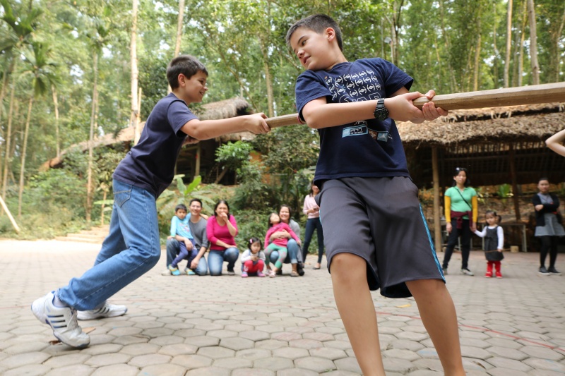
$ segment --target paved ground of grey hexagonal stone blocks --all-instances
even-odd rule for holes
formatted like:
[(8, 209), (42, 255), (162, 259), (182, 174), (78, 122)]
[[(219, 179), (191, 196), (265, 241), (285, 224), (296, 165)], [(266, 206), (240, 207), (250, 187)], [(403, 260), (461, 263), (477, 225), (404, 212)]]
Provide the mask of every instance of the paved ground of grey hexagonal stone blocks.
[[(359, 375), (325, 269), (304, 277), (163, 277), (160, 262), (112, 301), (127, 315), (82, 322), (91, 344), (54, 340), (30, 303), (80, 275), (99, 246), (0, 241), (1, 375)], [(165, 255), (163, 255), (165, 257)], [(565, 275), (537, 274), (537, 253), (506, 253), (503, 279), (447, 277), (459, 318), (468, 375), (565, 374)], [(440, 260), (443, 255), (439, 255)], [(164, 260), (164, 258), (162, 258)], [(560, 256), (558, 269), (564, 269)], [(288, 273), (289, 267), (285, 267)], [(275, 293), (278, 294), (275, 295)], [(442, 375), (412, 299), (373, 293), (387, 375)]]

